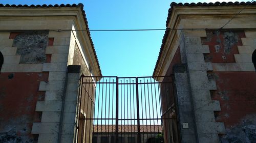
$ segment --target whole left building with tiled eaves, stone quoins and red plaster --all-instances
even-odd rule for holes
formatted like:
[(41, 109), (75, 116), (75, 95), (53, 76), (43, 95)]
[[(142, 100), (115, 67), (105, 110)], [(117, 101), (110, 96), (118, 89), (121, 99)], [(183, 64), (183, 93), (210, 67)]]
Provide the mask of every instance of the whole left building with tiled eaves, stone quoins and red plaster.
[(102, 76), (88, 29), (82, 4), (0, 5), (0, 142), (76, 142), (80, 75)]

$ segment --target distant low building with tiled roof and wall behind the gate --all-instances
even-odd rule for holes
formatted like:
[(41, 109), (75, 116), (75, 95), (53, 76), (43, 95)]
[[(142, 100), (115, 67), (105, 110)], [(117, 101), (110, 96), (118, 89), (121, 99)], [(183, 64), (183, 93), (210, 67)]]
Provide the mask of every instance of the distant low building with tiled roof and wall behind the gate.
[[(119, 143), (135, 143), (138, 137), (137, 125), (119, 125), (118, 126)], [(141, 142), (150, 142), (152, 138), (162, 134), (162, 125), (141, 125)], [(92, 143), (112, 143), (115, 142), (115, 125), (94, 125)]]

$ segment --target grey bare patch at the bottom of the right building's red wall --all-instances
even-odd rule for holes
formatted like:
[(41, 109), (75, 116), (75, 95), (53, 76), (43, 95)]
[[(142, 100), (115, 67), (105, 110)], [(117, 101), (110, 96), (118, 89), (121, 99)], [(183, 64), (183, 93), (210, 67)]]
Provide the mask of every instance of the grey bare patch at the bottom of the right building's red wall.
[(256, 115), (246, 116), (239, 124), (227, 128), (221, 143), (256, 143)]

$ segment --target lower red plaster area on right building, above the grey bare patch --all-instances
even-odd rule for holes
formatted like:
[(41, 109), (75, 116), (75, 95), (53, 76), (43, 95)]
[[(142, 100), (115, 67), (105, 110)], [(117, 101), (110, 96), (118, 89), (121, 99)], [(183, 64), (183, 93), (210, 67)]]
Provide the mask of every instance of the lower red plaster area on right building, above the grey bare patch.
[(216, 121), (226, 127), (239, 123), (246, 115), (256, 114), (255, 72), (214, 72), (217, 91), (212, 99), (219, 100), (221, 111), (216, 112)]

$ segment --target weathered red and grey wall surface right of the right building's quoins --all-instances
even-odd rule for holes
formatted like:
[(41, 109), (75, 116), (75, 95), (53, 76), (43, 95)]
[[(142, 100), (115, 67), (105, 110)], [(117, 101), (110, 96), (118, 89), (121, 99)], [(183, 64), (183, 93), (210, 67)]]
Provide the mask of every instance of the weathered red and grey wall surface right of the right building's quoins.
[(216, 122), (223, 122), (226, 134), (220, 134), (220, 142), (256, 139), (256, 74), (253, 71), (252, 52), (255, 31), (223, 30), (206, 31), (202, 44), (209, 45), (205, 61), (213, 64), (207, 72), (208, 79), (216, 82), (211, 99), (220, 102), (220, 111), (215, 111)]

